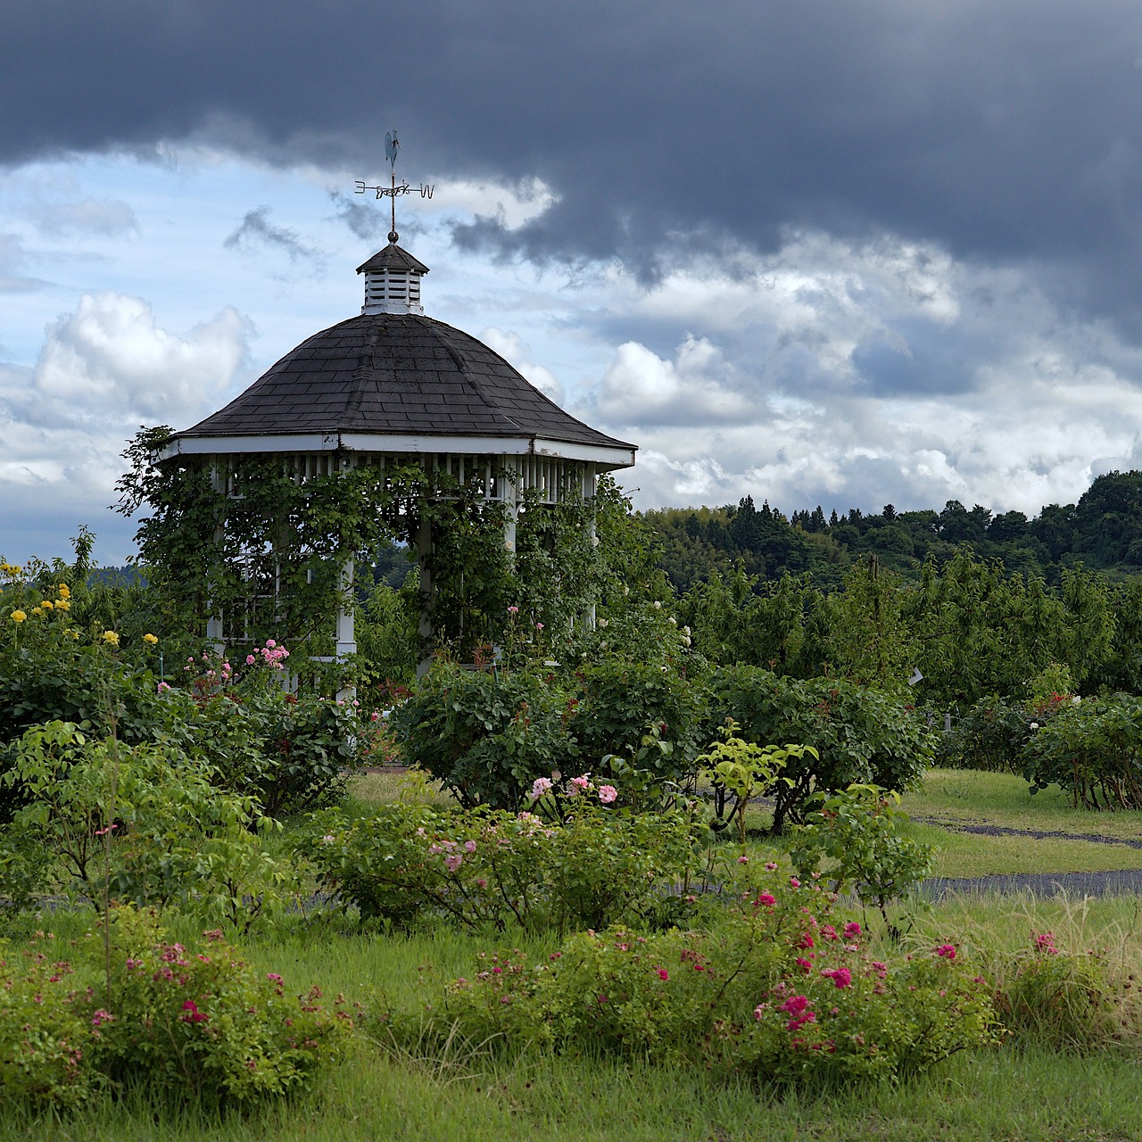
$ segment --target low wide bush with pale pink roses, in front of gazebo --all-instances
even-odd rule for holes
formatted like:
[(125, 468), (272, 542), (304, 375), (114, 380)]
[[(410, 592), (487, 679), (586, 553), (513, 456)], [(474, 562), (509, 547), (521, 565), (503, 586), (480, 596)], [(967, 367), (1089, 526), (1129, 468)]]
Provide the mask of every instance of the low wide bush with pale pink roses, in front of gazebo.
[(598, 796), (608, 797), (605, 787), (593, 796), (585, 782), (562, 822), (419, 804), (327, 811), (304, 852), (345, 906), (402, 927), (439, 917), (476, 930), (564, 932), (662, 915), (664, 888), (694, 860), (689, 821), (619, 813)]

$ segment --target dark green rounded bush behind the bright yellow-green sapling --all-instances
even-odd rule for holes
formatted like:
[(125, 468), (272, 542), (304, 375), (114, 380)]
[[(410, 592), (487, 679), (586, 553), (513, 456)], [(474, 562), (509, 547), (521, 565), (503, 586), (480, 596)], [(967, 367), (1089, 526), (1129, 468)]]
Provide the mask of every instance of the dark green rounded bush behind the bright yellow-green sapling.
[(932, 733), (906, 702), (843, 678), (801, 682), (757, 667), (726, 667), (710, 679), (709, 737), (732, 718), (756, 743), (796, 741), (807, 749), (790, 757), (773, 790), (773, 830), (804, 815), (818, 790), (853, 783), (907, 788), (931, 757)]

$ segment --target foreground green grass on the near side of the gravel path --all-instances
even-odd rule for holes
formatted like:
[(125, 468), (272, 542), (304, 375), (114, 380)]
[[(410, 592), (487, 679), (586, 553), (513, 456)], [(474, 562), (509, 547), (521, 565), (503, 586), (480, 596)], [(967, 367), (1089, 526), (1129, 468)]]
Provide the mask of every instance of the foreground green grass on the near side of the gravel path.
[[(65, 924), (67, 920), (59, 918)], [(71, 918), (72, 924), (78, 918)], [(1142, 964), (1142, 924), (1133, 901), (954, 901), (919, 920), (918, 946), (955, 940), (996, 957), (1052, 930), (1061, 947), (1107, 947), (1124, 968)], [(471, 971), (486, 941), (455, 933), (364, 935), (340, 923), (304, 927), (250, 944), (250, 958), (300, 989), (370, 989), (415, 1003)], [(525, 950), (542, 954), (545, 944)], [(497, 1059), (457, 1046), (443, 1059), (391, 1054), (363, 1042), (320, 1091), (252, 1112), (218, 1116), (146, 1097), (100, 1100), (73, 1116), (0, 1119), (2, 1140), (61, 1142), (1054, 1142), (1139, 1136), (1142, 1085), (1126, 1053), (1086, 1056), (1020, 1049), (1013, 1043), (959, 1056), (919, 1079), (870, 1088), (779, 1094), (719, 1083), (701, 1071), (618, 1065), (598, 1059), (524, 1054)]]

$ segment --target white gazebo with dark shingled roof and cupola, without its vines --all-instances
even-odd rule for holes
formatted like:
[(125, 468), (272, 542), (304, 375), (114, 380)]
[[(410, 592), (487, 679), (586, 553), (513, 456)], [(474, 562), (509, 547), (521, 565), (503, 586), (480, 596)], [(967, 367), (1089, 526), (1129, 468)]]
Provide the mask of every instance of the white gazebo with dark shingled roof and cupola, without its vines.
[[(224, 497), (238, 494), (235, 469), (251, 458), (274, 461), (303, 489), (314, 476), (362, 465), (384, 472), (415, 464), (504, 505), (504, 542), (514, 552), (521, 501), (589, 501), (601, 473), (635, 463), (636, 445), (577, 420), (486, 345), (425, 316), (420, 290), (428, 268), (396, 244), (395, 231), (388, 238), (357, 267), (364, 275), (360, 315), (314, 333), (225, 408), (175, 433), (158, 461), (203, 464)], [(427, 518), (413, 540), (427, 640), (434, 544)], [(353, 574), (348, 558), (328, 620), (337, 658), (356, 651)], [(279, 581), (270, 589), (286, 588)], [(246, 636), (240, 627), (219, 609), (207, 636), (220, 649)]]

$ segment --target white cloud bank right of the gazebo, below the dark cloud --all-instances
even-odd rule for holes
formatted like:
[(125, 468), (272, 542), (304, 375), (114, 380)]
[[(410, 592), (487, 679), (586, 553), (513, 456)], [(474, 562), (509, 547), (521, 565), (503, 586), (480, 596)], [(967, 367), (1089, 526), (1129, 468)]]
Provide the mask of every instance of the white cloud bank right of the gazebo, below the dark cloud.
[(694, 330), (674, 360), (620, 345), (585, 419), (642, 445), (642, 506), (1037, 513), (1142, 456), (1142, 353), (1011, 267), (883, 239), (798, 236), (734, 276), (677, 271), (634, 321)]

